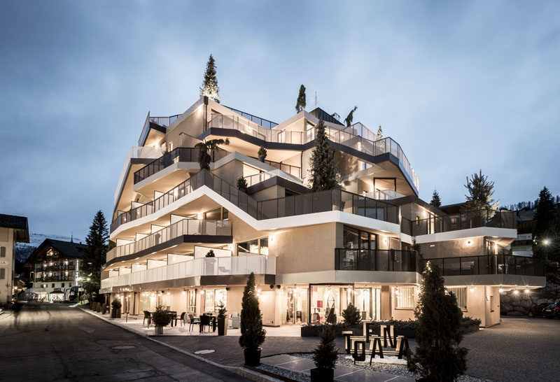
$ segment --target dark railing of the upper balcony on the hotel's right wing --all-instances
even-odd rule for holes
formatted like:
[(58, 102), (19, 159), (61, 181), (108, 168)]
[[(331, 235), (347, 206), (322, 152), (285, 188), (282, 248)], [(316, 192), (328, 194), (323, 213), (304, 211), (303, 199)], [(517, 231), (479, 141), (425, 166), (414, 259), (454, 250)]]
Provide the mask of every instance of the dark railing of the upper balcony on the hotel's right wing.
[(478, 210), (410, 221), (401, 219), (401, 231), (411, 236), (439, 234), (478, 227), (517, 228), (515, 211)]

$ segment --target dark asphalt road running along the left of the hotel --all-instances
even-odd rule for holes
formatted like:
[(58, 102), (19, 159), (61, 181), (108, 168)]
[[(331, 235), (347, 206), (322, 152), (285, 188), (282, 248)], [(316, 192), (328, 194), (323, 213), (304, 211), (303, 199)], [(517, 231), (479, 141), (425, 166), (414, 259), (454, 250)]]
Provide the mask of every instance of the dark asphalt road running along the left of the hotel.
[(0, 381), (246, 381), (79, 309), (0, 314)]

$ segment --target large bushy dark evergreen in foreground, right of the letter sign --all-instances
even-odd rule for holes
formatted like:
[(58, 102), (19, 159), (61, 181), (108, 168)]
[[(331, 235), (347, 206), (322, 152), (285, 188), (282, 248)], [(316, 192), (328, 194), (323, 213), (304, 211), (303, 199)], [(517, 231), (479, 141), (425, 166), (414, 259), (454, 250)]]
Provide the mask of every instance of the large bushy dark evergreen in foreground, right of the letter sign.
[(463, 313), (453, 293), (447, 294), (437, 264), (426, 263), (418, 305), (416, 350), (408, 358), (411, 372), (423, 381), (455, 381), (467, 369), (467, 348), (460, 348), (463, 339)]

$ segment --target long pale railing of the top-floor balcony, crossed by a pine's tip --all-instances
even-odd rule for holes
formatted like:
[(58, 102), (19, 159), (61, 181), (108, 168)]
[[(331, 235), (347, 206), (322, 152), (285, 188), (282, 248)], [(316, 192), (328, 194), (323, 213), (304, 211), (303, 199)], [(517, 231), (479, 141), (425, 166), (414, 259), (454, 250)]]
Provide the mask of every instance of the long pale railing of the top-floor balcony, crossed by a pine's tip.
[[(356, 124), (358, 125), (358, 124)], [(390, 137), (378, 140), (372, 140), (364, 138), (363, 136), (356, 135), (354, 133), (363, 133), (363, 129), (356, 127), (356, 125), (351, 127), (346, 127), (345, 129), (335, 129), (332, 127), (327, 127), (326, 132), (328, 139), (335, 143), (340, 143), (349, 148), (353, 148), (361, 153), (366, 153), (368, 155), (376, 156), (386, 153), (391, 153), (398, 158), (402, 170), (409, 176), (410, 180), (414, 184), (416, 190), (419, 189), (418, 176), (412, 169), (412, 166), (406, 157), (405, 153), (400, 148), (400, 145), (393, 141)], [(360, 124), (361, 125), (361, 124)], [(363, 125), (362, 125), (363, 126)], [(239, 118), (237, 115), (222, 115), (214, 114), (211, 120), (208, 122), (208, 128), (218, 128), (218, 129), (234, 129), (243, 134), (253, 136), (262, 141), (272, 142), (272, 143), (293, 143), (293, 144), (303, 144), (311, 142), (315, 139), (315, 128), (311, 127), (306, 132), (290, 132), (285, 130), (275, 130), (266, 129), (254, 122), (246, 121), (243, 118)], [(369, 132), (369, 130), (367, 130)], [(370, 132), (371, 133), (371, 132)], [(370, 138), (375, 138), (371, 134), (367, 134)]]

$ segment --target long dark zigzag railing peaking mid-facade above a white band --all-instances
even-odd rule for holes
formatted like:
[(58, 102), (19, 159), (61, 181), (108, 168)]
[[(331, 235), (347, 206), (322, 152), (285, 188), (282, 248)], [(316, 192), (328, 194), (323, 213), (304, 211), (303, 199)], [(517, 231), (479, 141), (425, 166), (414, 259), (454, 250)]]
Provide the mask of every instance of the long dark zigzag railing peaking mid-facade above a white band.
[(165, 208), (174, 201), (206, 185), (230, 201), (242, 211), (256, 219), (283, 218), (285, 216), (303, 215), (325, 211), (342, 211), (398, 224), (398, 206), (370, 199), (342, 190), (310, 192), (265, 201), (255, 201), (253, 197), (239, 191), (207, 170), (202, 170), (183, 183), (172, 188), (154, 201), (130, 211), (121, 213), (111, 222), (111, 232), (126, 222), (131, 222), (151, 215)]

